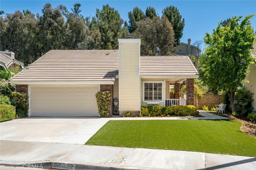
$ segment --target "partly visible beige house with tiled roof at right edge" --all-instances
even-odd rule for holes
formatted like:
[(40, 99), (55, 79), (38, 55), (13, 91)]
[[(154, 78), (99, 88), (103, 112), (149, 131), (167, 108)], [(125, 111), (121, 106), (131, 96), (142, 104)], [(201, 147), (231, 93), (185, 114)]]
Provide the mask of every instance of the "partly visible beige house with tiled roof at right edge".
[(253, 48), (254, 51), (251, 52), (251, 55), (254, 63), (250, 64), (250, 72), (246, 77), (246, 80), (248, 80), (249, 83), (244, 82), (244, 85), (246, 86), (247, 90), (250, 90), (250, 92), (253, 93), (252, 98), (254, 101), (252, 102), (252, 107), (254, 107), (254, 110), (256, 110), (256, 43), (253, 44)]

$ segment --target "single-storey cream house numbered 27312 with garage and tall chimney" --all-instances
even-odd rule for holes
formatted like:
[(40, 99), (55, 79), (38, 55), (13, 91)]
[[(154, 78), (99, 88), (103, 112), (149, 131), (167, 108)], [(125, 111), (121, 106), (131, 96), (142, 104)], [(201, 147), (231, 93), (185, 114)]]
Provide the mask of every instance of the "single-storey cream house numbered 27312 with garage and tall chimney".
[[(51, 50), (9, 82), (29, 97), (29, 116), (99, 116), (95, 93), (111, 92), (119, 113), (145, 105), (194, 105), (199, 74), (188, 56), (140, 56), (140, 39), (119, 39), (119, 50)], [(187, 98), (179, 85), (187, 80)], [(169, 99), (170, 84), (175, 97)]]

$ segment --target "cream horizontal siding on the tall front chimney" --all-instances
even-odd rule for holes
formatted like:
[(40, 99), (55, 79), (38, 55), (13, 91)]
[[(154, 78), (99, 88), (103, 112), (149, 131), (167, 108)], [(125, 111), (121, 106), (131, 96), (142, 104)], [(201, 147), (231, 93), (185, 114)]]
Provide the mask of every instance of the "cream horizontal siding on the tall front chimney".
[(119, 107), (121, 112), (139, 111), (139, 47), (139, 44), (120, 44), (119, 46)]

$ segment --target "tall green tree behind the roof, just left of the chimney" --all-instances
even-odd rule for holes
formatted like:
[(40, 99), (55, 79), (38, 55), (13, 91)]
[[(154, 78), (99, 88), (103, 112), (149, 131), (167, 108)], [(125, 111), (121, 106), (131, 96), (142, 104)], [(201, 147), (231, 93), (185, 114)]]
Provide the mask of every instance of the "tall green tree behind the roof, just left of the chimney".
[(97, 49), (118, 49), (118, 38), (125, 38), (129, 35), (127, 29), (122, 27), (124, 20), (120, 17), (117, 10), (108, 4), (103, 5), (102, 9), (96, 10), (96, 16), (87, 23), (91, 30), (99, 30), (101, 35)]

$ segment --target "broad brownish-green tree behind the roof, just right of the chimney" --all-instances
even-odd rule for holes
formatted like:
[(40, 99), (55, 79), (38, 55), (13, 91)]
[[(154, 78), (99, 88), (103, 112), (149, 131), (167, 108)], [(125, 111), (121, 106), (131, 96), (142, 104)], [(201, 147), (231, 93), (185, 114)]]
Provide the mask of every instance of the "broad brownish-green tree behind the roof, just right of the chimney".
[(141, 39), (141, 55), (172, 55), (177, 49), (172, 25), (164, 15), (137, 22), (132, 36)]

